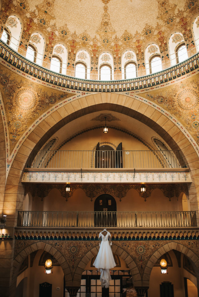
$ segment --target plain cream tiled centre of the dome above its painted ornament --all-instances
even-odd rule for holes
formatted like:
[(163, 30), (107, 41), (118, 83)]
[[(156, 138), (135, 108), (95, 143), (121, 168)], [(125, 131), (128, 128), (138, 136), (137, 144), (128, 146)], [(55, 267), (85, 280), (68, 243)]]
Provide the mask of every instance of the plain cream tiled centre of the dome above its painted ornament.
[(146, 24), (156, 27), (158, 22), (163, 25), (166, 15), (173, 15), (174, 10), (184, 10), (186, 1), (55, 0), (41, 3), (40, 0), (28, 0), (27, 3), (30, 11), (46, 10), (47, 7), (51, 24), (55, 23), (57, 28), (67, 24), (71, 33), (79, 35), (86, 31), (93, 38), (100, 32), (105, 10), (110, 16), (111, 32), (121, 36), (125, 30), (130, 34), (142, 31)]

